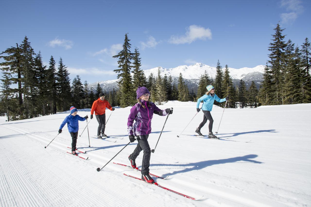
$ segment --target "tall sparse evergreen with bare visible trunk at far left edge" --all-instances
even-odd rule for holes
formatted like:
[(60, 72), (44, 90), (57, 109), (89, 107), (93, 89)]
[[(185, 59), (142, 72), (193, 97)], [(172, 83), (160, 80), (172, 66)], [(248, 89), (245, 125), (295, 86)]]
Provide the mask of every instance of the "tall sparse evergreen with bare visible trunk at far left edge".
[[(9, 77), (12, 84), (17, 84), (17, 89), (15, 88), (13, 91), (16, 92), (17, 99), (18, 99), (18, 117), (17, 119), (23, 119), (23, 99), (22, 99), (22, 57), (21, 57), (21, 48), (16, 43), (16, 48), (11, 47), (7, 48), (4, 52), (2, 52), (0, 55), (6, 53), (7, 56), (0, 56), (0, 58), (3, 58), (5, 62), (0, 63), (0, 66), (8, 67), (9, 68)], [(11, 76), (11, 77), (10, 77)], [(17, 76), (17, 77), (16, 77)]]

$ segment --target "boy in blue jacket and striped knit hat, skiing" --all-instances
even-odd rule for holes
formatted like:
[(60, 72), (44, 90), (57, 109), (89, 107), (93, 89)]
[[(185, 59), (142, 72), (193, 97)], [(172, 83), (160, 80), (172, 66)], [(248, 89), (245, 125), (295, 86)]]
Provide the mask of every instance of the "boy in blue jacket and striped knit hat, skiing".
[(77, 155), (76, 153), (76, 144), (77, 144), (77, 138), (78, 138), (78, 131), (79, 131), (79, 123), (78, 121), (85, 121), (88, 116), (86, 115), (85, 117), (80, 117), (77, 115), (78, 110), (76, 107), (72, 106), (70, 107), (70, 115), (67, 116), (63, 123), (60, 125), (58, 133), (62, 133), (62, 129), (67, 123), (68, 131), (71, 135), (72, 138), (72, 143), (71, 143), (71, 153), (73, 155)]

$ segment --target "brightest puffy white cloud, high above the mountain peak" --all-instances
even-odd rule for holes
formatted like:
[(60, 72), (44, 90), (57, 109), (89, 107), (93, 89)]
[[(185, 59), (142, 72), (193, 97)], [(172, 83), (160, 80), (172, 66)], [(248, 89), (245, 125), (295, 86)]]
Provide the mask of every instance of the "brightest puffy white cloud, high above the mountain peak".
[(184, 36), (175, 36), (172, 35), (169, 39), (169, 43), (172, 44), (185, 44), (192, 43), (197, 39), (212, 39), (212, 33), (209, 28), (205, 29), (204, 27), (198, 25), (191, 25), (187, 28), (187, 32)]

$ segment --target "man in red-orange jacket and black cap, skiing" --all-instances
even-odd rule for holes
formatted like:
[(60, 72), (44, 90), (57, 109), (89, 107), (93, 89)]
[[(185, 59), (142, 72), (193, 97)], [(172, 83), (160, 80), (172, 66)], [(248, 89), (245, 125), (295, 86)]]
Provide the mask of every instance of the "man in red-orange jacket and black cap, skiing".
[[(105, 100), (105, 95), (103, 93), (99, 94), (99, 98), (93, 102), (92, 109), (91, 109), (91, 119), (93, 118), (93, 113), (95, 111), (95, 117), (98, 122), (98, 128), (97, 128), (97, 138), (101, 139), (102, 136), (107, 137), (105, 135), (105, 123), (106, 123), (106, 108), (108, 108), (111, 111), (114, 111), (114, 108), (112, 108), (107, 100)], [(101, 136), (100, 136), (101, 132)]]

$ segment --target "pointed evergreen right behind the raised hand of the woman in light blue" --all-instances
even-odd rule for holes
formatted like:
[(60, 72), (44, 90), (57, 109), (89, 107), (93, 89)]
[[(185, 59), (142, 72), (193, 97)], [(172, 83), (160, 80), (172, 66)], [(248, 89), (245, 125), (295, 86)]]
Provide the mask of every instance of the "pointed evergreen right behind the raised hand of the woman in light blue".
[[(234, 90), (232, 78), (230, 77), (230, 71), (229, 71), (228, 65), (225, 66), (224, 79), (221, 83), (221, 87), (222, 87), (223, 97), (230, 96), (229, 103), (227, 103), (228, 108), (235, 108), (235, 90)], [(223, 98), (223, 97), (219, 97), (219, 98)]]

